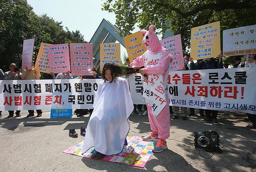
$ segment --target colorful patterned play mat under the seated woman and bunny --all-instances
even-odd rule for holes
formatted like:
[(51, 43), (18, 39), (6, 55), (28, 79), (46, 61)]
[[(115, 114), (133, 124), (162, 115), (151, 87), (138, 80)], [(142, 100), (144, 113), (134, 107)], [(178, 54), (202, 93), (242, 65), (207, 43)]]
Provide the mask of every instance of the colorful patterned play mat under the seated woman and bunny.
[[(122, 163), (126, 165), (131, 165), (134, 167), (144, 168), (147, 161), (153, 155), (153, 148), (156, 143), (153, 141), (142, 141), (141, 137), (127, 137), (128, 145), (124, 146), (123, 151), (116, 155), (105, 156), (102, 158), (103, 161)], [(90, 156), (94, 153), (94, 148), (91, 148), (90, 153), (82, 153), (82, 145), (84, 142), (82, 141), (75, 146), (68, 148), (63, 151), (63, 153), (68, 153), (71, 155), (77, 155), (79, 157), (90, 158)]]

